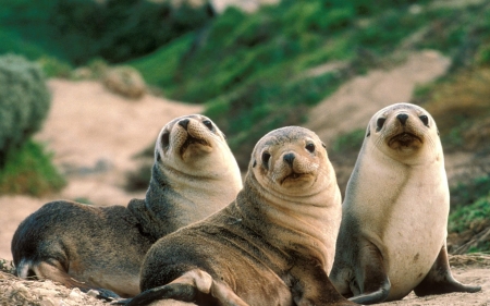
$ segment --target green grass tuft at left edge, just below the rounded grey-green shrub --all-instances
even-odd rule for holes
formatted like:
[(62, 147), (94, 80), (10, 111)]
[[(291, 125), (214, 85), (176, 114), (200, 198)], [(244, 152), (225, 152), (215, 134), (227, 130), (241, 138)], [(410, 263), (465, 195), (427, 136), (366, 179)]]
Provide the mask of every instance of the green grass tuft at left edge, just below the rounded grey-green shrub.
[(8, 155), (0, 170), (0, 194), (27, 194), (42, 196), (60, 191), (64, 178), (51, 162), (52, 155), (33, 140)]

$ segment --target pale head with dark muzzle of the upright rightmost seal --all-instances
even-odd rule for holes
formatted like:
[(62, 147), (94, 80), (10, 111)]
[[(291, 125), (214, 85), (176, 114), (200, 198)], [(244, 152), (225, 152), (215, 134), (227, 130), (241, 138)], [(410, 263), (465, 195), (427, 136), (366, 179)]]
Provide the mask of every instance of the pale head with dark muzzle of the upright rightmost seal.
[(425, 150), (439, 151), (440, 146), (432, 117), (411, 103), (396, 103), (378, 111), (369, 122), (366, 138), (384, 155), (404, 161), (417, 155), (427, 156)]

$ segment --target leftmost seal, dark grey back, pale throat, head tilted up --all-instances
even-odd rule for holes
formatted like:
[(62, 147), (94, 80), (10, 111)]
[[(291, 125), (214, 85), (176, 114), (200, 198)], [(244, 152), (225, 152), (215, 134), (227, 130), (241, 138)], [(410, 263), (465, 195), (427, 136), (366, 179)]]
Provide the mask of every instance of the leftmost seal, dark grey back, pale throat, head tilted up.
[(242, 186), (238, 166), (218, 126), (200, 114), (176, 118), (156, 142), (145, 199), (133, 199), (127, 207), (68, 200), (44, 205), (13, 236), (16, 274), (83, 291), (98, 289), (100, 297), (112, 297), (110, 291), (134, 296), (150, 246), (225, 207)]

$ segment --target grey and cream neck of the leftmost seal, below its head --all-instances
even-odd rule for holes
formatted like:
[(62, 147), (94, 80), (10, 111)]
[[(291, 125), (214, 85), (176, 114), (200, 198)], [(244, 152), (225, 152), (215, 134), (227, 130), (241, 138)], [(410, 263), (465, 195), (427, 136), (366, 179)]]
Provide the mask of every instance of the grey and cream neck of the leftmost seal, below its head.
[(132, 209), (145, 231), (159, 238), (222, 209), (241, 187), (240, 175), (231, 172), (201, 178), (155, 163), (144, 206)]

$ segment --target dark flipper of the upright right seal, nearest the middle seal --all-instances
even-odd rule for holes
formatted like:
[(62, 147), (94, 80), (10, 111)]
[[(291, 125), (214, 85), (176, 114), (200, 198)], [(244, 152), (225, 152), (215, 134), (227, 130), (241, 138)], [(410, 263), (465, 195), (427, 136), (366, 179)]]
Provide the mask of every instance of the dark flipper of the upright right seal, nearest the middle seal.
[(391, 283), (384, 269), (383, 257), (376, 245), (367, 242), (359, 248), (359, 267), (356, 271), (357, 290), (359, 292), (348, 301), (370, 305), (381, 303), (390, 294)]

